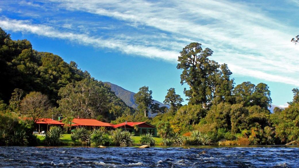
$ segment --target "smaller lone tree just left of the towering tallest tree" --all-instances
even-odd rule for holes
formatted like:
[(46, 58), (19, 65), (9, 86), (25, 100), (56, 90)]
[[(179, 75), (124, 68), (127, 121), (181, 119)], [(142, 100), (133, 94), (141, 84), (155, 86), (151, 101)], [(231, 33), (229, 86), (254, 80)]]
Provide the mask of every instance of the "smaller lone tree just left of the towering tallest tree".
[(170, 88), (167, 90), (167, 95), (165, 96), (164, 104), (170, 105), (170, 109), (173, 111), (178, 110), (178, 107), (182, 106), (182, 102), (184, 101), (180, 95), (176, 94), (175, 88)]

